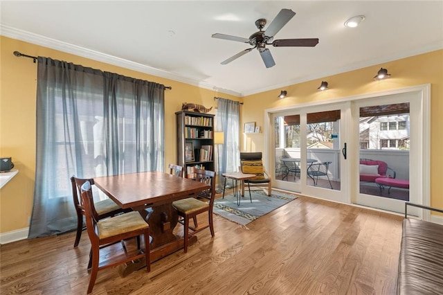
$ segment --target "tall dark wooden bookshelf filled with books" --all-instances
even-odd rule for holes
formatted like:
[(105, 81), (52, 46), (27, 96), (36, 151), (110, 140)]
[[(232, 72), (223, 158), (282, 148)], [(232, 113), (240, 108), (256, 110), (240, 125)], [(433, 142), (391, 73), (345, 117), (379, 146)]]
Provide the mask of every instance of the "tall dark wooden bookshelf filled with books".
[[(177, 111), (177, 165), (184, 177), (194, 178), (194, 168), (214, 171), (214, 115)], [(192, 153), (191, 153), (192, 151)]]

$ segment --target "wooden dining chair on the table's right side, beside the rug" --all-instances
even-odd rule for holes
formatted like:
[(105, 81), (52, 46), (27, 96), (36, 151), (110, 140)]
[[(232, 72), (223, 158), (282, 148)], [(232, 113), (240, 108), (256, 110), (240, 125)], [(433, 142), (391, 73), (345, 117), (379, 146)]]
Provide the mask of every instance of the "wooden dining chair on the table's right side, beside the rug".
[[(183, 220), (179, 220), (184, 227), (184, 251), (188, 252), (188, 243), (190, 237), (202, 231), (204, 229), (210, 229), (210, 235), (214, 236), (214, 224), (213, 224), (213, 207), (215, 200), (215, 172), (210, 170), (195, 169), (195, 180), (210, 185), (210, 189), (204, 190), (197, 195), (196, 198), (189, 197), (187, 199), (180, 199), (172, 202), (172, 206), (177, 209), (179, 216), (183, 217)], [(197, 226), (197, 215), (208, 212), (208, 224), (203, 226)], [(189, 220), (195, 220), (194, 226), (190, 226)], [(192, 233), (189, 233), (189, 230)]]

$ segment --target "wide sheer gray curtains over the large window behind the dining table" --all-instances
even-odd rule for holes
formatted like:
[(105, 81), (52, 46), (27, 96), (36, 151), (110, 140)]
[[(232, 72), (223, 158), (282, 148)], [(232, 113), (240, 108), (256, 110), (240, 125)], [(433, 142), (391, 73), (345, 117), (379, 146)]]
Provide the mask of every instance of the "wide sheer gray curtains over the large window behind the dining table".
[(76, 228), (72, 175), (163, 171), (164, 90), (162, 84), (38, 57), (28, 238)]

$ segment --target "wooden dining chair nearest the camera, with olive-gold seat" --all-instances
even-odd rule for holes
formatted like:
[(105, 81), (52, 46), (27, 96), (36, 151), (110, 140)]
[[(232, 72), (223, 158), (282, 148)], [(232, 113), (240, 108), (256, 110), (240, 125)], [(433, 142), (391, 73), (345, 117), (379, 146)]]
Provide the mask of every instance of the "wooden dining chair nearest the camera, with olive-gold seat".
[[(145, 258), (146, 270), (151, 270), (150, 263), (150, 227), (143, 220), (140, 213), (132, 211), (117, 215), (116, 217), (98, 220), (98, 213), (94, 207), (91, 184), (89, 181), (84, 182), (81, 187), (81, 204), (84, 208), (84, 216), (86, 219), (86, 227), (91, 240), (91, 253), (89, 260), (89, 268), (91, 269), (91, 278), (87, 293), (91, 293), (96, 283), (97, 273), (101, 269), (114, 267), (136, 259)], [(145, 250), (143, 251), (138, 244), (137, 249), (128, 249), (124, 240), (130, 238), (140, 238), (143, 235), (145, 241)], [(139, 241), (139, 240), (138, 240)], [(108, 254), (106, 260), (100, 261), (100, 249), (108, 247), (112, 244), (122, 242), (123, 253), (114, 256)]]

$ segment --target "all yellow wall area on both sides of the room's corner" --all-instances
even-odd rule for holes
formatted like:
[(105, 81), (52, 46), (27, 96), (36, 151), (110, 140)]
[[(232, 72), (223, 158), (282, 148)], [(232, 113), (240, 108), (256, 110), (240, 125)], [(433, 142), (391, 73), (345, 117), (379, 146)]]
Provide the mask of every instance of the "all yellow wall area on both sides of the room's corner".
[[(13, 51), (66, 60), (103, 71), (172, 86), (172, 90), (165, 91), (165, 143), (167, 143), (165, 145), (165, 166), (167, 163), (176, 161), (174, 113), (181, 109), (183, 102), (195, 102), (215, 108), (217, 102), (213, 100), (214, 96), (242, 100), (224, 93), (216, 94), (208, 89), (123, 69), (15, 39), (0, 38), (0, 157), (12, 157), (16, 168), (20, 170), (19, 174), (0, 190), (0, 233), (28, 227), (28, 217), (30, 217), (33, 206), (37, 64), (28, 58), (15, 57), (12, 54)], [(376, 82), (372, 80), (372, 77), (381, 66), (392, 73), (392, 78)], [(329, 90), (316, 91), (321, 80), (329, 82)], [(443, 182), (439, 179), (440, 168), (443, 166), (443, 154), (439, 149), (443, 130), (443, 120), (440, 119), (443, 114), (443, 51), (386, 62), (378, 66), (370, 66), (247, 96), (243, 100), (241, 126), (244, 122), (255, 122), (263, 128), (264, 109), (427, 83), (431, 83), (431, 205), (443, 208), (443, 198), (440, 197), (440, 192), (443, 191)], [(279, 100), (277, 95), (282, 89), (288, 91), (288, 97)], [(264, 134), (242, 135), (241, 146), (242, 150), (246, 151), (262, 151)]]

